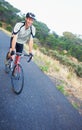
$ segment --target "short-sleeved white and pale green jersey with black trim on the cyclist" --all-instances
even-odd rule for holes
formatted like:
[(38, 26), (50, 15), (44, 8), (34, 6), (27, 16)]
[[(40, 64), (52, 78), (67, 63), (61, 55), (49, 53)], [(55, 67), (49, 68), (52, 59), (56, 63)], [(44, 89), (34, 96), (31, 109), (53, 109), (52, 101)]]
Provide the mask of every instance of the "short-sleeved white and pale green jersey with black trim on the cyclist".
[(35, 27), (32, 25), (25, 29), (25, 22), (18, 22), (13, 29), (13, 34), (17, 34), (17, 43), (25, 44), (35, 36)]

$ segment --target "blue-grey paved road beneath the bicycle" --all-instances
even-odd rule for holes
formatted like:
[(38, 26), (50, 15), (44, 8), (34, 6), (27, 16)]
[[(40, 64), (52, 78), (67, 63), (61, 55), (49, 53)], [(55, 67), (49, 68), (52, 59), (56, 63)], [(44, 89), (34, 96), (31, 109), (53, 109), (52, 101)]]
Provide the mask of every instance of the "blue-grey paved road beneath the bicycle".
[(0, 31), (0, 130), (82, 130), (82, 117), (33, 63), (21, 61), (25, 86), (17, 96), (4, 72), (9, 37)]

